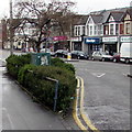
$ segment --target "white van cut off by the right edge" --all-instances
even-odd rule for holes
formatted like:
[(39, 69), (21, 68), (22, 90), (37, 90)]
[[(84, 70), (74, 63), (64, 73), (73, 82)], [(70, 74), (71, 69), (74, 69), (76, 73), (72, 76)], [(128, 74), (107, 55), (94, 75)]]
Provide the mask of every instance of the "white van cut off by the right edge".
[(124, 63), (132, 62), (132, 43), (122, 43), (120, 47), (120, 61)]

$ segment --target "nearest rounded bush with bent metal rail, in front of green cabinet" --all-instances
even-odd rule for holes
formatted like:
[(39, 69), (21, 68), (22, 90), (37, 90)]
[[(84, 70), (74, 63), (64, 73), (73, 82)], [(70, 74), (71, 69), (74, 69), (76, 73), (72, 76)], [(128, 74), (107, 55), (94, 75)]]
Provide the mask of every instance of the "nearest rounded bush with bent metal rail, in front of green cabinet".
[(76, 89), (76, 78), (73, 73), (54, 66), (33, 65), (25, 65), (19, 73), (20, 82), (23, 84), (41, 102), (53, 109), (55, 82), (46, 79), (46, 77), (59, 81), (56, 110), (66, 112), (72, 105), (72, 97)]

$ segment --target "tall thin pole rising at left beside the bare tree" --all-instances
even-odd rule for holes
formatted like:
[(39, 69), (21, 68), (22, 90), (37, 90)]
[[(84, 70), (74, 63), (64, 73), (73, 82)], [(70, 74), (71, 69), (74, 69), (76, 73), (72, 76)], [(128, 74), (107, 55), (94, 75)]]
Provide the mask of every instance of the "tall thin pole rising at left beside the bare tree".
[(13, 21), (13, 14), (12, 14), (12, 0), (10, 0), (10, 54), (13, 54), (13, 29), (12, 29), (12, 21)]

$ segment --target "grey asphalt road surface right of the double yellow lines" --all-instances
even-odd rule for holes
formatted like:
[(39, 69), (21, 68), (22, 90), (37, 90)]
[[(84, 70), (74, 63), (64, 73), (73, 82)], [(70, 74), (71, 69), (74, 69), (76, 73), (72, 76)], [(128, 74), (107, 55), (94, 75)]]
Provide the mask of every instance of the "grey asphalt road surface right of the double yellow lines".
[(85, 81), (85, 113), (98, 130), (130, 130), (130, 65), (72, 62)]

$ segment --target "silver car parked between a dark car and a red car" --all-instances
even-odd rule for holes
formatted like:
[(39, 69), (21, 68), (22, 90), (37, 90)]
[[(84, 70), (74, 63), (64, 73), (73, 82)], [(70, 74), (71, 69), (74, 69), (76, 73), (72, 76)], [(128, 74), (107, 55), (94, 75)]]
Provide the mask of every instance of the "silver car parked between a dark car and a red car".
[(99, 52), (99, 51), (94, 52), (91, 58), (92, 58), (92, 61), (102, 61), (102, 62), (105, 62), (105, 61), (112, 61), (112, 56), (111, 55), (109, 55), (106, 52)]

